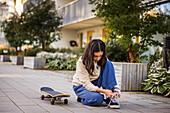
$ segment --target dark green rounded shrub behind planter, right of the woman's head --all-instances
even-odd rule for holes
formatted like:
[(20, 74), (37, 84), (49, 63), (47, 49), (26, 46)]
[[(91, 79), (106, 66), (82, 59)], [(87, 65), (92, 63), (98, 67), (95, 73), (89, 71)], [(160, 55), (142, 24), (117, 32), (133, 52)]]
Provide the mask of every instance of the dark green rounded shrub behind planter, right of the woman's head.
[(115, 40), (107, 40), (106, 42), (107, 56), (113, 62), (128, 62), (129, 54), (123, 45), (120, 45)]

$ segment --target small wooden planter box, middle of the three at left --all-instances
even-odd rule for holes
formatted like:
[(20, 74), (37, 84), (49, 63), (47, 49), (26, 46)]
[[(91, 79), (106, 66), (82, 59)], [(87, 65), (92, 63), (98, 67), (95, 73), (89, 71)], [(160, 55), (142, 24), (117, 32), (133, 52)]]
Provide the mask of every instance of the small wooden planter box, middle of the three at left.
[(22, 57), (22, 56), (12, 56), (12, 64), (23, 65), (24, 64), (24, 57)]

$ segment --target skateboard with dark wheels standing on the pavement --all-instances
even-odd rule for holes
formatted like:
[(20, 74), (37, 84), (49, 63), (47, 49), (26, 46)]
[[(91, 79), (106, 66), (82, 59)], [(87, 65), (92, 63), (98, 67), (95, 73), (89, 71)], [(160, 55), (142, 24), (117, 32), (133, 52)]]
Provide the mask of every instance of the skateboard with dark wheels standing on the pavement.
[[(54, 105), (55, 100), (61, 101), (61, 98), (63, 97), (70, 97), (69, 94), (54, 91), (52, 88), (49, 87), (41, 87), (40, 91), (46, 94), (46, 96), (41, 96), (41, 100), (44, 100), (44, 98), (51, 98), (51, 105)], [(64, 99), (64, 104), (68, 104), (68, 99)]]

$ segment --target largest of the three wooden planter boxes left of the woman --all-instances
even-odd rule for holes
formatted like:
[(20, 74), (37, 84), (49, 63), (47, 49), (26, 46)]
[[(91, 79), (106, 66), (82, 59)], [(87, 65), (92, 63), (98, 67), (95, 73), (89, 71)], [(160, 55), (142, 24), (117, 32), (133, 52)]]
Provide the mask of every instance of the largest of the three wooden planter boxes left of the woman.
[(42, 69), (45, 66), (45, 59), (39, 57), (24, 57), (24, 67), (31, 69)]

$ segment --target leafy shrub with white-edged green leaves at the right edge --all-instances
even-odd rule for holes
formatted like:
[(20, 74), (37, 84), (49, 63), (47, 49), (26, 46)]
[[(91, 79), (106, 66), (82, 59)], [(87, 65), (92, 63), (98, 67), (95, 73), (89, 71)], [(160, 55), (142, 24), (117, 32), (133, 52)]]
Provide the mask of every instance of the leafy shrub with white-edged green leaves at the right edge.
[(148, 72), (148, 79), (144, 80), (142, 84), (145, 86), (144, 91), (158, 93), (164, 96), (170, 95), (170, 72), (162, 68), (163, 58), (157, 62), (152, 63)]

